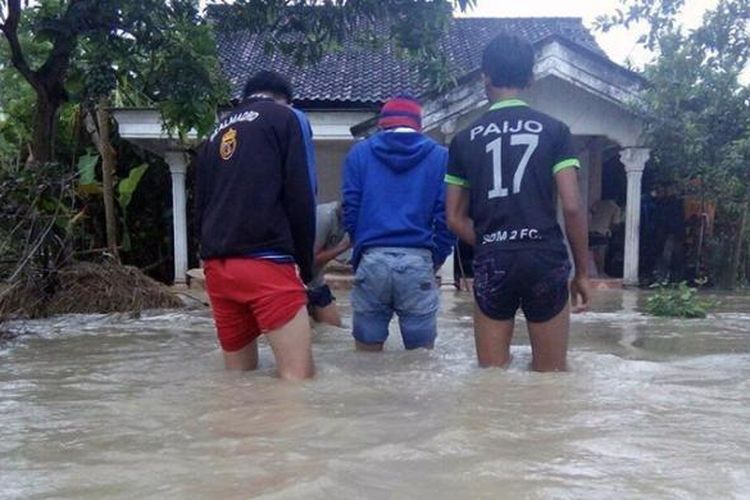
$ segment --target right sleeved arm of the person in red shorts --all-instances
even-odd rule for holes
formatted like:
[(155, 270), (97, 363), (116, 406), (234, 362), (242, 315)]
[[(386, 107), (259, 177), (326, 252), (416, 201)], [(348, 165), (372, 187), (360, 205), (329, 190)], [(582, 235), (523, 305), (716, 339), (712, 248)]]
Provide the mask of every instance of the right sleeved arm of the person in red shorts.
[(294, 259), (305, 283), (312, 280), (315, 246), (315, 196), (307, 151), (297, 117), (290, 112), (286, 125), (288, 144), (284, 161), (283, 203), (294, 241)]

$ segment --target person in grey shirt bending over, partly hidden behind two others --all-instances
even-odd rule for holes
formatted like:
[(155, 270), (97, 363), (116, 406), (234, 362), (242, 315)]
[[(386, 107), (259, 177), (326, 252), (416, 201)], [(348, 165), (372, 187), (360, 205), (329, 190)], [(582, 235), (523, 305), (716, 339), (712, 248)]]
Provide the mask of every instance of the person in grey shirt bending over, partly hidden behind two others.
[(336, 297), (326, 284), (324, 273), (329, 262), (351, 248), (344, 229), (341, 203), (334, 201), (318, 205), (315, 228), (315, 269), (307, 286), (310, 315), (318, 323), (340, 327), (341, 315), (336, 307)]

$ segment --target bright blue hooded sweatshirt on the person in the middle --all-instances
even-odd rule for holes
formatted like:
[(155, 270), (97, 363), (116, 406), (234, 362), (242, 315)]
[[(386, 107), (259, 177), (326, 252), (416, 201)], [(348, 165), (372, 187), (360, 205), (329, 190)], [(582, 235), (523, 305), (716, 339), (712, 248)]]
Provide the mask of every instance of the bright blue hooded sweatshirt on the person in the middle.
[(426, 248), (443, 264), (455, 243), (445, 223), (447, 164), (448, 150), (417, 132), (380, 132), (349, 151), (342, 195), (355, 268), (373, 247)]

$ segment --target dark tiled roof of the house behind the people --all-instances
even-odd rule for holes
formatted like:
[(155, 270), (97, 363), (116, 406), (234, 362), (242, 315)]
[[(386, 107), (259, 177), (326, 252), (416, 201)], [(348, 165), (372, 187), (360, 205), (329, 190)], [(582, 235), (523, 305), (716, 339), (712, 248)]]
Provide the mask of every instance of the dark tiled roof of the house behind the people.
[[(455, 77), (477, 70), (482, 48), (500, 32), (520, 34), (532, 43), (557, 36), (606, 57), (580, 18), (457, 18), (440, 41)], [(395, 93), (429, 90), (413, 64), (399, 59), (387, 44), (375, 49), (345, 44), (314, 66), (299, 66), (281, 54), (268, 54), (262, 34), (220, 32), (217, 42), (233, 97), (239, 97), (245, 80), (260, 69), (287, 76), (295, 99), (306, 102), (377, 104)]]

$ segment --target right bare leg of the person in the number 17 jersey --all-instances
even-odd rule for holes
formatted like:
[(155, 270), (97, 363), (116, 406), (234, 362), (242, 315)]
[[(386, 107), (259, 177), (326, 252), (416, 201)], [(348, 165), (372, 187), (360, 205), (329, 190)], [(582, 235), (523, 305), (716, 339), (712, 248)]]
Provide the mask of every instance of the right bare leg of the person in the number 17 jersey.
[(537, 372), (562, 372), (567, 369), (570, 305), (545, 323), (531, 323), (531, 369)]

